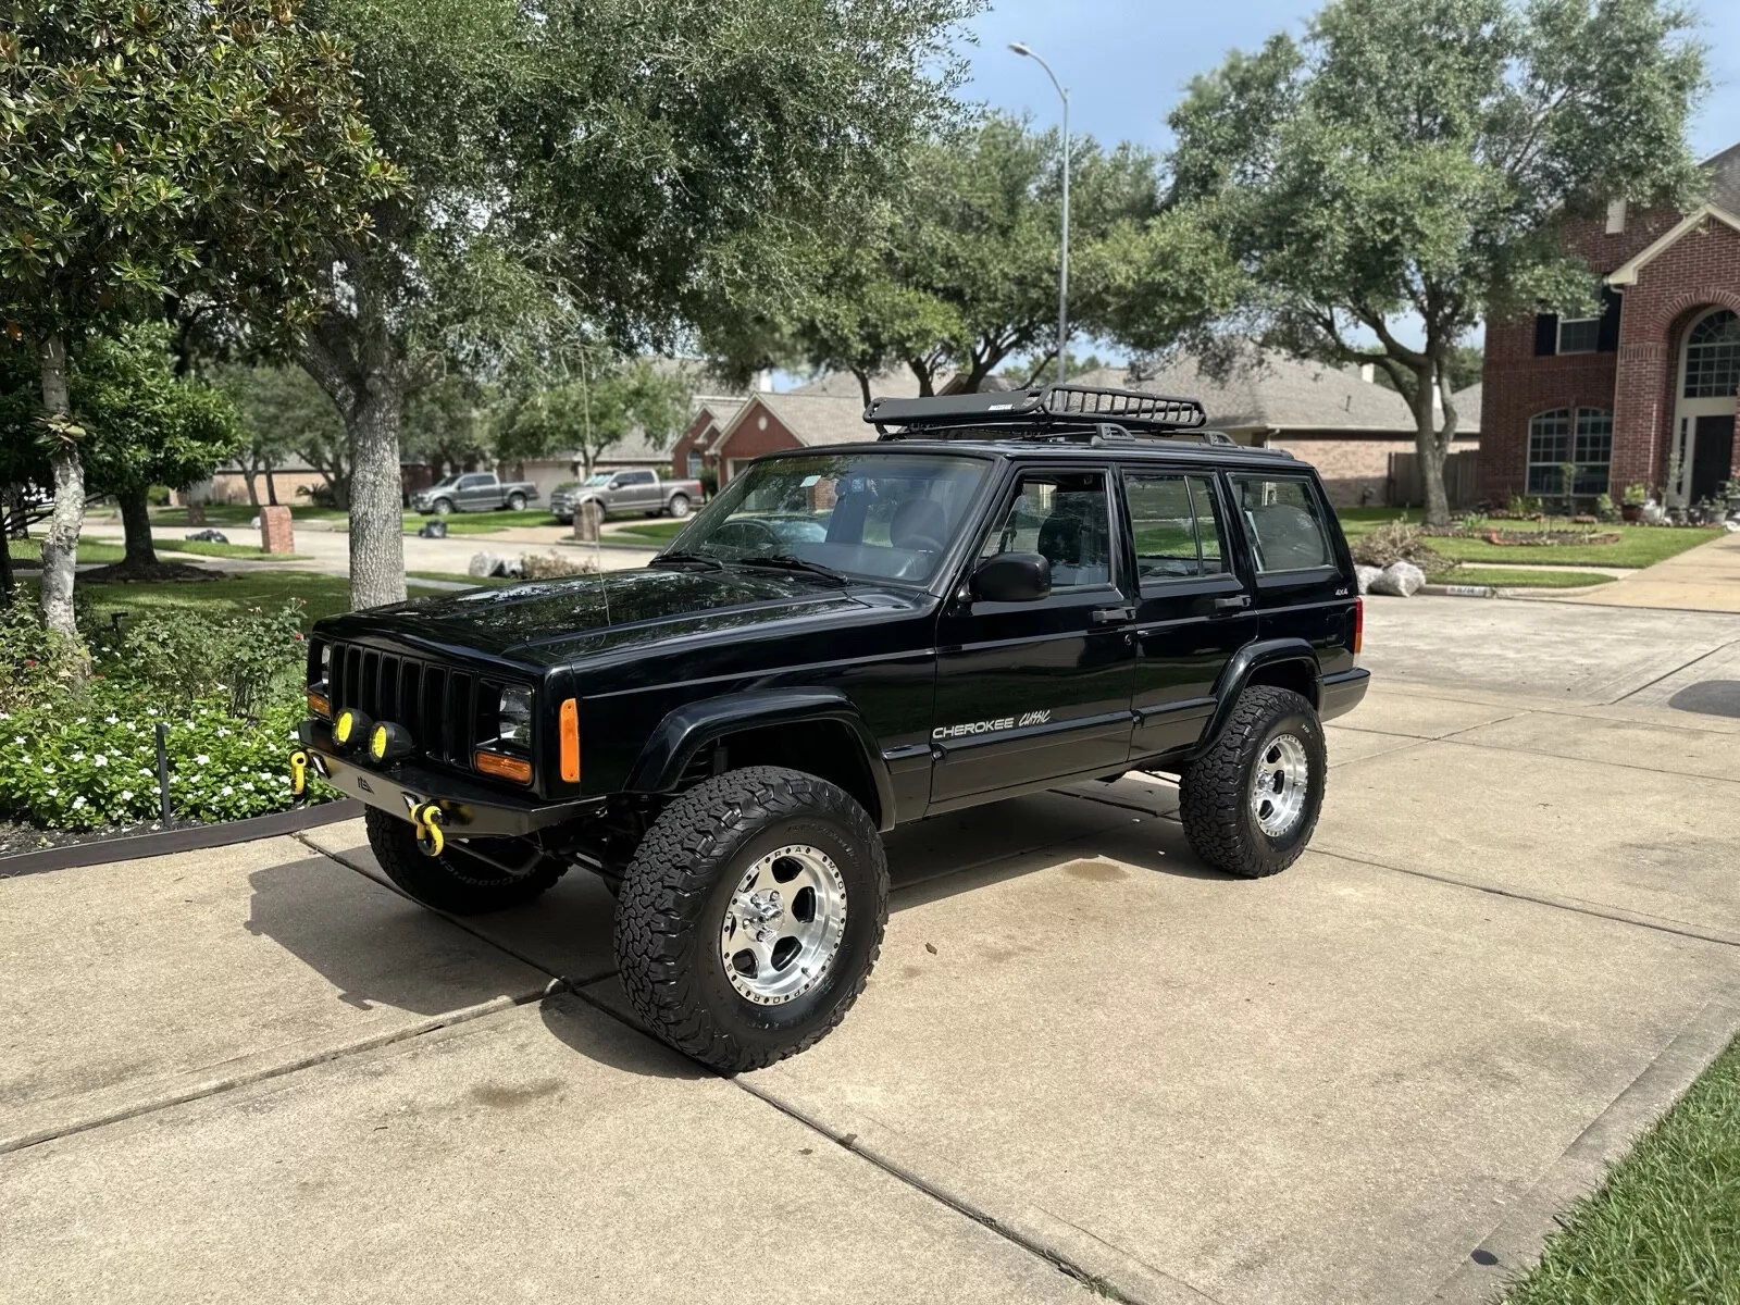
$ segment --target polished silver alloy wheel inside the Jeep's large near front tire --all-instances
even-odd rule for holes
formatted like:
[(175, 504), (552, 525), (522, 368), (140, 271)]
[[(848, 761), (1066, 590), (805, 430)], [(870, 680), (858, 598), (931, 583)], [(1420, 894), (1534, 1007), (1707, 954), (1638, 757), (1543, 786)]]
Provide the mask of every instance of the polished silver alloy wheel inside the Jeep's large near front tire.
[(738, 880), (719, 955), (731, 987), (783, 1006), (816, 987), (846, 936), (846, 879), (820, 847), (776, 847)]

